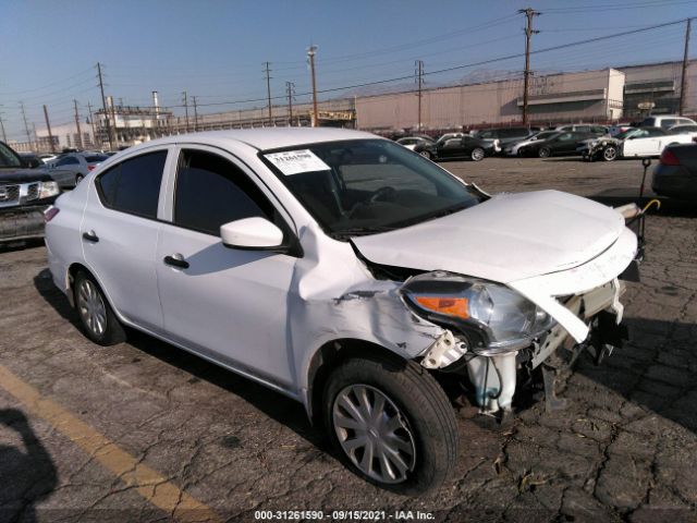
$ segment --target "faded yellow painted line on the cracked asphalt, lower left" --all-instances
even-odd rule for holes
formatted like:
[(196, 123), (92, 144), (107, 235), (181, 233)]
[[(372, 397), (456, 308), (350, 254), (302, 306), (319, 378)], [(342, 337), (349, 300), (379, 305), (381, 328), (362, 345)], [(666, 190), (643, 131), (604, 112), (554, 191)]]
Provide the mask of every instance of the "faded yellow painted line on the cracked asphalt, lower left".
[(77, 416), (0, 365), (0, 387), (24, 403), (34, 415), (48, 422), (73, 443), (115, 474), (154, 506), (179, 521), (220, 522), (209, 507), (193, 498), (157, 471), (143, 464)]

